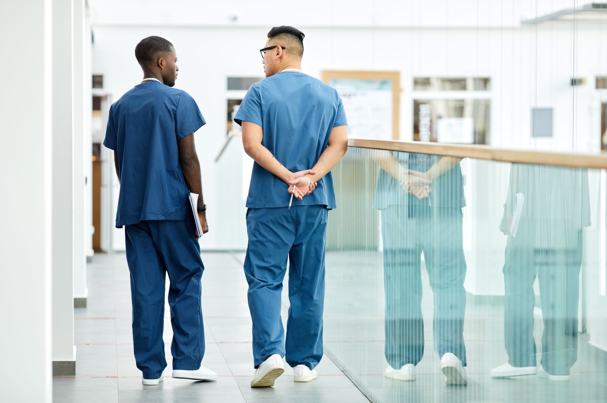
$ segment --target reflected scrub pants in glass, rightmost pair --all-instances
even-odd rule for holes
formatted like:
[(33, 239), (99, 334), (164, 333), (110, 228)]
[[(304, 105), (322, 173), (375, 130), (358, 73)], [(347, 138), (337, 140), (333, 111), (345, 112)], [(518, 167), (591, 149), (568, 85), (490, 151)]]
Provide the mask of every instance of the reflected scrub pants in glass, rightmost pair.
[(537, 276), (544, 330), (541, 365), (551, 375), (569, 375), (577, 361), (577, 310), (582, 267), (580, 225), (566, 221), (521, 219), (517, 236), (508, 237), (504, 282), (504, 330), (508, 362), (514, 367), (537, 365), (534, 330)]

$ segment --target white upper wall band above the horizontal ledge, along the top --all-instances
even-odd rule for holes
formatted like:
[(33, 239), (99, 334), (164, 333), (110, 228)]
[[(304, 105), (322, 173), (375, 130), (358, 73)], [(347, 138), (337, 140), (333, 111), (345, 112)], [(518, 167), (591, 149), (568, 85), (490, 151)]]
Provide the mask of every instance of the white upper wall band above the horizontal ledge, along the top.
[[(231, 27), (517, 27), (572, 8), (571, 0), (308, 0), (259, 2), (92, 0), (97, 24)], [(586, 3), (579, 2), (578, 5)], [(158, 10), (162, 10), (161, 13)]]

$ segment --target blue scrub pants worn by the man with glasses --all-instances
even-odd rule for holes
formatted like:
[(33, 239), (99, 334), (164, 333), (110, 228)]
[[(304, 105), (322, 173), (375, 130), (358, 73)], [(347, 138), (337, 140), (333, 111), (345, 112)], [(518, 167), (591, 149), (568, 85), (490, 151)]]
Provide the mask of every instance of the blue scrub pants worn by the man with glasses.
[[(291, 367), (310, 369), (322, 358), (327, 212), (324, 205), (247, 210), (245, 276), (256, 368), (274, 354), (285, 356)], [(287, 258), (291, 306), (285, 351), (280, 306)]]

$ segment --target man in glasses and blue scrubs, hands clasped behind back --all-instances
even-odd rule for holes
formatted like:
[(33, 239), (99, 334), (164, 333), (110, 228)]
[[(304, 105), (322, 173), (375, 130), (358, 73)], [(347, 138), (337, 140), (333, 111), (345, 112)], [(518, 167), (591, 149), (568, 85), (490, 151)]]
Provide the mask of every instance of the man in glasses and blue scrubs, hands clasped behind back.
[[(304, 34), (272, 28), (261, 53), (266, 79), (249, 88), (234, 118), (242, 125), (245, 152), (255, 160), (245, 259), (257, 368), (252, 387), (273, 386), (284, 371), (283, 357), (294, 367), (294, 381), (316, 379), (323, 353), (327, 212), (336, 208), (330, 170), (348, 146), (336, 90), (301, 71)], [(285, 348), (280, 295), (287, 258)]]

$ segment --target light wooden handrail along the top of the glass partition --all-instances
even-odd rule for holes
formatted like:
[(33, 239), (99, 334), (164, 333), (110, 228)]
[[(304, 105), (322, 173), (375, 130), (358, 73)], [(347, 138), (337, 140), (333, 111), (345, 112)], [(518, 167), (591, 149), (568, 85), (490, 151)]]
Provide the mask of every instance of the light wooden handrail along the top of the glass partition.
[(365, 139), (349, 139), (348, 146), (458, 158), (486, 159), (489, 161), (515, 162), (518, 164), (607, 169), (607, 153), (604, 152), (599, 154), (554, 153), (530, 150), (509, 150), (488, 147), (487, 145), (459, 145), (420, 141)]

